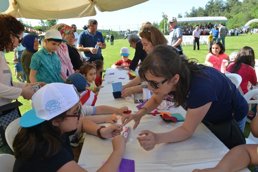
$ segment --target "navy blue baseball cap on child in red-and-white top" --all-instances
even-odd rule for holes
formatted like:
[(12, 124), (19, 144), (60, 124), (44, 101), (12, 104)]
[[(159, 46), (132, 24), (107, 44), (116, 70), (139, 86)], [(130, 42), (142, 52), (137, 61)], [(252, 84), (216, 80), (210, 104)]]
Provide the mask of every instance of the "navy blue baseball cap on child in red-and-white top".
[(66, 79), (66, 84), (68, 81), (71, 81), (77, 90), (85, 89), (87, 86), (87, 79), (80, 73), (73, 73)]

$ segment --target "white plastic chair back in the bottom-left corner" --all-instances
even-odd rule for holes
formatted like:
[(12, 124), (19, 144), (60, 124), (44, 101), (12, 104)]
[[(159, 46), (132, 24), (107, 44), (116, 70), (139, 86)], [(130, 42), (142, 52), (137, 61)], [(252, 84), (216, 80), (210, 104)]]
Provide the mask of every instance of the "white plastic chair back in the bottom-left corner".
[(0, 154), (0, 168), (4, 172), (12, 172), (15, 157), (10, 154)]

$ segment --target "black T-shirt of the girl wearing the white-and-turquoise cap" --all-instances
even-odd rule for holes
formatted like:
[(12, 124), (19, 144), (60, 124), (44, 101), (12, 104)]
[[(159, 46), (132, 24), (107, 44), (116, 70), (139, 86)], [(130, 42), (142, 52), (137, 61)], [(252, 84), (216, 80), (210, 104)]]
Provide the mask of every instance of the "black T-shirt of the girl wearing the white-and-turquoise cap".
[[(42, 161), (40, 153), (33, 156), (32, 161), (23, 161), (21, 158), (16, 158), (13, 165), (13, 172), (16, 171), (57, 171), (67, 162), (74, 160), (74, 154), (70, 145), (69, 136), (73, 135), (77, 129), (64, 133), (62, 135), (62, 148), (59, 153), (50, 159)], [(47, 149), (47, 146), (46, 146)]]

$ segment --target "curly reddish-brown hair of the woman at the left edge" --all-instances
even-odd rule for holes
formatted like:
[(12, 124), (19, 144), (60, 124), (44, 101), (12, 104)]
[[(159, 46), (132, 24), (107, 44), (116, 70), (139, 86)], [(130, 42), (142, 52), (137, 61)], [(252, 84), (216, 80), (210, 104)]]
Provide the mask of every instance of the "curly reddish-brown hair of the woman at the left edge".
[(14, 36), (12, 35), (12, 32), (19, 35), (24, 31), (24, 26), (12, 15), (1, 14), (0, 28), (0, 51), (6, 50), (6, 52), (9, 52), (9, 48), (13, 47), (11, 37), (14, 38)]

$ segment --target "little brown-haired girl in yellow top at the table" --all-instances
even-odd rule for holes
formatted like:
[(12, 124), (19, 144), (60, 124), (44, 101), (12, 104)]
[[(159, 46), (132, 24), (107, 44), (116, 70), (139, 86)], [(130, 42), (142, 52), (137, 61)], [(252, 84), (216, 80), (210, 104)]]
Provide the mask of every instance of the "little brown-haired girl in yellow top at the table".
[(82, 74), (87, 79), (87, 89), (90, 89), (96, 96), (99, 93), (100, 88), (103, 86), (96, 86), (95, 79), (96, 79), (96, 66), (93, 64), (85, 64), (80, 67), (80, 74)]

